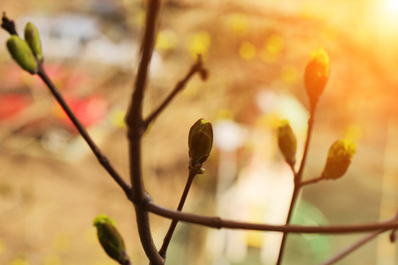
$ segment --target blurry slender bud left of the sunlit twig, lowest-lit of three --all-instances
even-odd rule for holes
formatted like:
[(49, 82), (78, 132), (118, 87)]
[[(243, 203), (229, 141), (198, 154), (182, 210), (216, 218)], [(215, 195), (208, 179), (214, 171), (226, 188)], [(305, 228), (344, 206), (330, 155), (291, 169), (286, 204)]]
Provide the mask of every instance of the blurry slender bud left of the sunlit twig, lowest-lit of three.
[(294, 167), (297, 140), (295, 139), (295, 133), (293, 133), (288, 120), (283, 120), (278, 127), (278, 146), (286, 162), (291, 167)]

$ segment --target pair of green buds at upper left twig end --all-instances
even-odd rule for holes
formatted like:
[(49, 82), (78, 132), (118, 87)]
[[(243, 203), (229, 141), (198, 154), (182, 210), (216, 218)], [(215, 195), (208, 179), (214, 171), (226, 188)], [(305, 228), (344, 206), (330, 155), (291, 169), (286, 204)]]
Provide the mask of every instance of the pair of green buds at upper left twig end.
[(34, 74), (42, 64), (42, 43), (37, 28), (32, 23), (25, 27), (25, 40), (12, 34), (7, 40), (7, 49), (11, 57), (27, 72)]

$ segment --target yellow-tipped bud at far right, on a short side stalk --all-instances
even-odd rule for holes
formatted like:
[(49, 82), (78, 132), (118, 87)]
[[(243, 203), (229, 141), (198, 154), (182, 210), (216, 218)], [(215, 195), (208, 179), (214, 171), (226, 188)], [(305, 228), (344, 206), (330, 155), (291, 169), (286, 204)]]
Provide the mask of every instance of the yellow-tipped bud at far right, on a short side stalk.
[(341, 178), (348, 170), (351, 159), (356, 154), (356, 144), (352, 140), (336, 140), (327, 155), (323, 178)]

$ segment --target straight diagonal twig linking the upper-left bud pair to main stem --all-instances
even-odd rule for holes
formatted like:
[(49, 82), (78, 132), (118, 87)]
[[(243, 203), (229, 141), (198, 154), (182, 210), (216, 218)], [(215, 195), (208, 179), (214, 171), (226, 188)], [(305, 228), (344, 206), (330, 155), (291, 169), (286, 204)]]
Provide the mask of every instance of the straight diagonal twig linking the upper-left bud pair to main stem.
[(83, 137), (83, 139), (86, 140), (88, 146), (91, 148), (94, 155), (96, 155), (96, 158), (98, 159), (99, 163), (103, 165), (103, 168), (108, 171), (111, 177), (119, 184), (119, 186), (126, 193), (127, 198), (129, 198), (131, 194), (131, 186), (126, 182), (125, 179), (123, 179), (119, 175), (119, 173), (113, 168), (113, 166), (109, 162), (108, 158), (105, 155), (103, 155), (103, 152), (100, 150), (100, 148), (96, 146), (96, 143), (94, 142), (94, 140), (91, 139), (86, 128), (80, 123), (79, 118), (74, 115), (73, 110), (71, 110), (71, 108), (65, 102), (64, 97), (61, 95), (57, 87), (54, 85), (54, 83), (51, 81), (47, 73), (44, 71), (41, 64), (39, 64), (39, 71), (37, 72), (37, 75), (40, 76), (40, 78), (44, 81), (47, 87), (49, 87), (52, 95), (54, 95), (59, 105), (61, 105), (62, 109), (65, 110), (66, 115), (71, 119), (73, 125), (79, 131), (81, 137)]

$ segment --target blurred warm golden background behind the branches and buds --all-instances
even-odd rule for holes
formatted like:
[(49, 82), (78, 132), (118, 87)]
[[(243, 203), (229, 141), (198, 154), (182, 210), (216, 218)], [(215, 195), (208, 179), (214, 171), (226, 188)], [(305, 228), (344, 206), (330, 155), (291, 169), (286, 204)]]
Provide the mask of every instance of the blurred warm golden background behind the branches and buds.
[[(292, 173), (276, 146), (288, 119), (298, 160), (309, 103), (302, 73), (310, 52), (331, 57), (318, 103), (304, 178), (316, 178), (334, 140), (357, 152), (348, 173), (302, 191), (293, 223), (386, 220), (398, 188), (398, 1), (163, 1), (145, 113), (157, 107), (203, 54), (210, 79), (194, 77), (146, 133), (143, 170), (157, 203), (176, 208), (188, 177), (188, 130), (212, 121), (215, 144), (185, 210), (282, 224)], [(125, 111), (142, 36), (141, 0), (2, 1), (19, 34), (30, 21), (42, 37), (44, 67), (96, 143), (128, 179)], [(8, 35), (0, 31), (0, 42)], [(148, 263), (134, 209), (37, 77), (0, 49), (0, 264), (111, 265), (92, 220), (111, 216), (134, 264)], [(151, 216), (160, 246), (170, 221)], [(363, 235), (291, 234), (284, 264), (318, 264)], [(180, 223), (169, 264), (274, 264), (281, 235), (211, 230)], [(338, 264), (396, 264), (388, 235)]]

